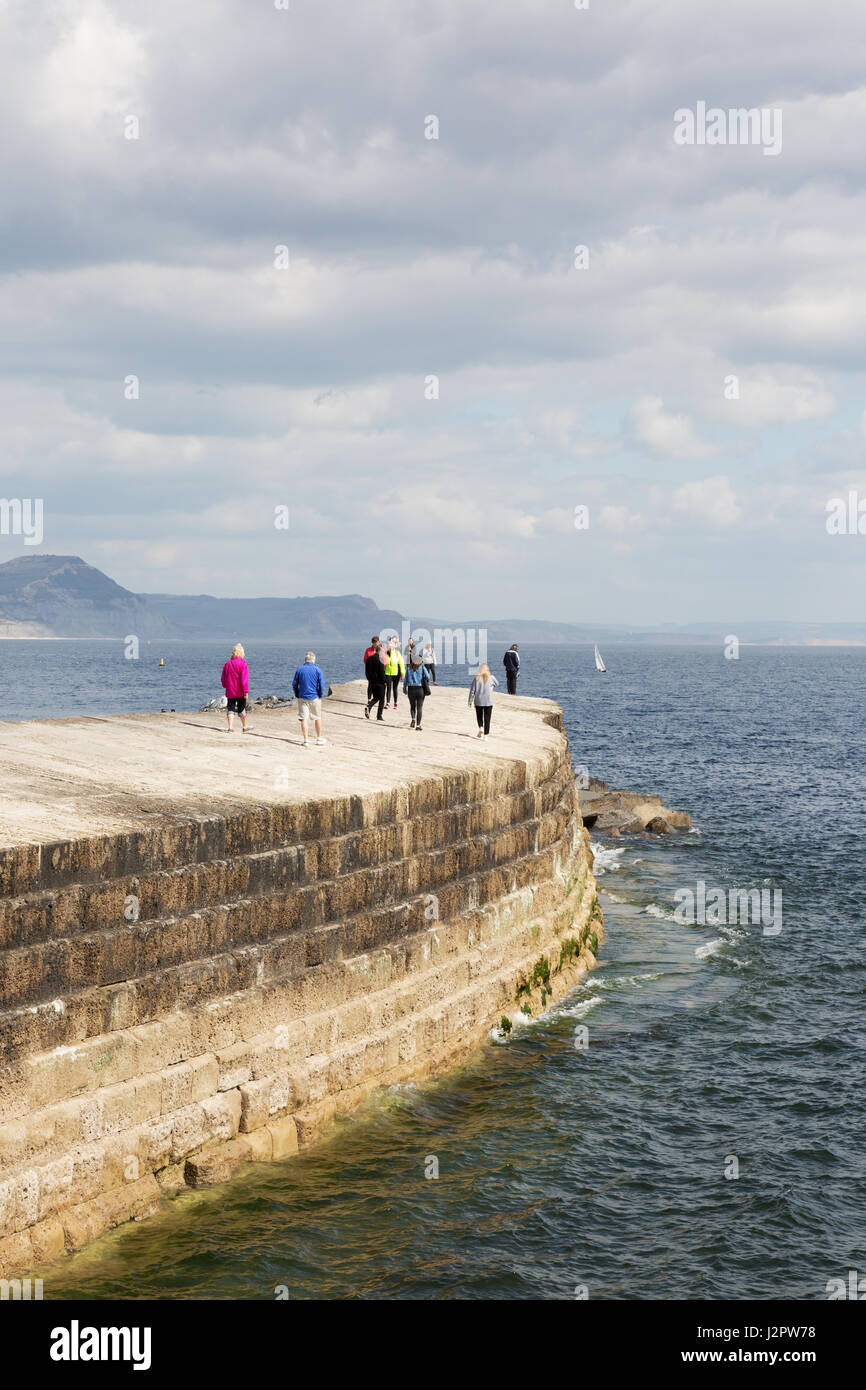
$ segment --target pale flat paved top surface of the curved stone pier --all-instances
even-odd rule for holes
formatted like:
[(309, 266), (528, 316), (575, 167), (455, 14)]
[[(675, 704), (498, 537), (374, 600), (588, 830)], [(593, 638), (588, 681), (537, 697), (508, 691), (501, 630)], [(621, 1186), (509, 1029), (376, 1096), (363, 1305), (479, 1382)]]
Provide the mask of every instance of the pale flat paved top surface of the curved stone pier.
[[(527, 759), (562, 737), (553, 701), (495, 695), (489, 741), (475, 738), (467, 689), (438, 685), (424, 730), (409, 701), (364, 719), (366, 682), (335, 685), (322, 702), (324, 748), (300, 745), (296, 706), (250, 714), (225, 733), (225, 713), (107, 714), (0, 721), (0, 848), (46, 844), (202, 816), (231, 806), (384, 791), (491, 758)], [(310, 730), (313, 733), (313, 730)]]

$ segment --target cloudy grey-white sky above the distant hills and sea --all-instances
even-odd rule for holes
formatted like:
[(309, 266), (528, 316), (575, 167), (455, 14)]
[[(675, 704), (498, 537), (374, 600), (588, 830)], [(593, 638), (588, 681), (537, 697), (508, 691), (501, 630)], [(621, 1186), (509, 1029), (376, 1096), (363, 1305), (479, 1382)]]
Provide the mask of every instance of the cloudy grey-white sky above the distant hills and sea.
[[(0, 493), (43, 550), (455, 620), (863, 616), (851, 0), (0, 0)], [(702, 101), (781, 149), (678, 145)]]

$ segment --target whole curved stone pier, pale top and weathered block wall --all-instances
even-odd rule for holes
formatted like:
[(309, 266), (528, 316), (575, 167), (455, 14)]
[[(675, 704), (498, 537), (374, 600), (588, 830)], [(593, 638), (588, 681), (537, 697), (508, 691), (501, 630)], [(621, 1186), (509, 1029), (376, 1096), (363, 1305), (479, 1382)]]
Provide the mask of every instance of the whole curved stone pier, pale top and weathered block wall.
[(0, 1276), (289, 1156), (595, 965), (562, 713), (0, 723)]

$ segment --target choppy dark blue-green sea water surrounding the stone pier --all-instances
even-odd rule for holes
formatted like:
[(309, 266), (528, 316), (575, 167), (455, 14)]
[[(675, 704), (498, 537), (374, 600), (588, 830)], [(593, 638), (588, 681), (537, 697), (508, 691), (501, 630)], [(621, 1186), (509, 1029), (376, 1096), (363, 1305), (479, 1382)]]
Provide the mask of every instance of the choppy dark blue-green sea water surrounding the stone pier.
[[(0, 652), (6, 717), (196, 708), (225, 655)], [(359, 674), (353, 649), (317, 652)], [(288, 691), (296, 655), (250, 644), (254, 694)], [(585, 648), (525, 648), (520, 689), (562, 703), (575, 767), (695, 830), (595, 837), (607, 935), (585, 986), (309, 1154), (165, 1201), (46, 1297), (815, 1300), (866, 1272), (866, 652), (605, 657), (596, 676)], [(781, 931), (676, 920), (698, 881), (781, 892)]]

